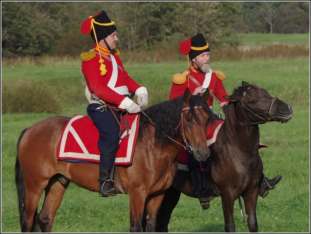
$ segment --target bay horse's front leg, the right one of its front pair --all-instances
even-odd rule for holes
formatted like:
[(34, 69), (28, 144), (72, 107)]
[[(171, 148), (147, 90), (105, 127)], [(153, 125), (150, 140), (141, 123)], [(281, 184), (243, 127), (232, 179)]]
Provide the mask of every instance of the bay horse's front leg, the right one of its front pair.
[(146, 232), (156, 232), (157, 217), (165, 191), (150, 196), (146, 203)]

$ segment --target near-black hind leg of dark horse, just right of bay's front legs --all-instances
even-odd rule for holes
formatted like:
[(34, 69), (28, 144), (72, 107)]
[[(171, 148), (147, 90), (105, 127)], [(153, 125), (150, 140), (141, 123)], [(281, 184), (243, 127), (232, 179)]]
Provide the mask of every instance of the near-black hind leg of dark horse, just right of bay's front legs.
[(168, 225), (171, 218), (171, 214), (176, 207), (181, 192), (170, 186), (166, 191), (159, 210), (157, 220), (157, 232), (169, 232)]

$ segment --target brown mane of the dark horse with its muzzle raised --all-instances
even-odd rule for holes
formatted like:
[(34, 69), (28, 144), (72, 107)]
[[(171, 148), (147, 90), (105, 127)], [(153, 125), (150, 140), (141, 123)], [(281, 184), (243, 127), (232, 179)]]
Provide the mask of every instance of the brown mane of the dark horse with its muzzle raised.
[[(239, 96), (239, 100), (241, 100), (244, 92), (247, 91), (248, 87), (258, 88), (258, 85), (248, 84), (240, 86), (235, 88), (232, 94), (237, 94)], [(223, 112), (225, 114), (225, 123), (223, 124), (223, 128), (225, 128), (225, 132), (229, 137), (233, 137), (235, 134), (235, 129), (239, 127), (239, 120), (235, 115), (235, 104), (236, 102), (229, 101), (228, 105), (223, 108)]]

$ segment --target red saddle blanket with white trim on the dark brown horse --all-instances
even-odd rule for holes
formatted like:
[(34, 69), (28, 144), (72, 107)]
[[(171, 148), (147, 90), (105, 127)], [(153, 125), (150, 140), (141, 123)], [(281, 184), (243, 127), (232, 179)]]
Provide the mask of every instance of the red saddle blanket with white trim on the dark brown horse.
[[(206, 133), (206, 143), (207, 147), (211, 147), (217, 140), (217, 136), (219, 133), (220, 128), (222, 127), (222, 124), (225, 122), (225, 120), (218, 119), (216, 120), (216, 124), (213, 127), (207, 126), (207, 133)], [(259, 149), (263, 147), (268, 147), (262, 143), (259, 143)], [(177, 161), (178, 161), (178, 170), (179, 171), (189, 171), (188, 169), (188, 160), (189, 160), (189, 152), (188, 150), (185, 150), (184, 148), (181, 148), (178, 155), (177, 155)], [(200, 169), (201, 171), (205, 171), (205, 168), (202, 168), (202, 165), (200, 163)]]

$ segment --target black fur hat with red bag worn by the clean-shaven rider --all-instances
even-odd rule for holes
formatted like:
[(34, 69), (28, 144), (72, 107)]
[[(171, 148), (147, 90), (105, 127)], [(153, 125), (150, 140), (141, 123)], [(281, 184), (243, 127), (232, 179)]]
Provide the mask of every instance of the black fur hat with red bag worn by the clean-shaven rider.
[(100, 41), (106, 38), (115, 30), (117, 30), (117, 27), (114, 25), (114, 21), (109, 19), (105, 11), (102, 11), (95, 16), (90, 16), (90, 18), (83, 21), (81, 25), (81, 33), (88, 33), (91, 35), (94, 42), (96, 42), (96, 39), (97, 41)]

